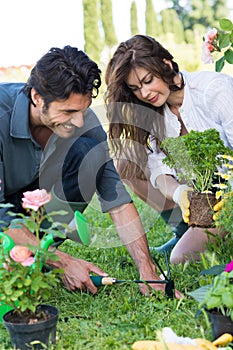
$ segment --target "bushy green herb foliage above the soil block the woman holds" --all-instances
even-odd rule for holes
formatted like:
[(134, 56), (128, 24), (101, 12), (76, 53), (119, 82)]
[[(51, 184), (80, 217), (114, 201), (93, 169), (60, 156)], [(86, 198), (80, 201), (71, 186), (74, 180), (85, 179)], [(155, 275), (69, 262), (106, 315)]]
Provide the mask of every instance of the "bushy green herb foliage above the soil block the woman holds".
[(166, 153), (163, 162), (176, 169), (178, 180), (185, 180), (195, 192), (212, 190), (222, 163), (218, 156), (232, 153), (216, 129), (191, 130), (180, 137), (168, 137), (163, 140), (161, 148)]

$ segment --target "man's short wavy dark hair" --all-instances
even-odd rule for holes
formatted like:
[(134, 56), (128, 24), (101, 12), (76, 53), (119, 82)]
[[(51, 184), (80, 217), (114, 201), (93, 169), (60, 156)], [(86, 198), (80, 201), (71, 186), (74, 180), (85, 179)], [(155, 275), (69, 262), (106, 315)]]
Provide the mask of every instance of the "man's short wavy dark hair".
[(96, 97), (101, 85), (100, 69), (83, 51), (65, 46), (53, 47), (36, 63), (23, 92), (31, 99), (34, 88), (45, 108), (52, 101), (66, 100), (71, 93), (91, 93)]

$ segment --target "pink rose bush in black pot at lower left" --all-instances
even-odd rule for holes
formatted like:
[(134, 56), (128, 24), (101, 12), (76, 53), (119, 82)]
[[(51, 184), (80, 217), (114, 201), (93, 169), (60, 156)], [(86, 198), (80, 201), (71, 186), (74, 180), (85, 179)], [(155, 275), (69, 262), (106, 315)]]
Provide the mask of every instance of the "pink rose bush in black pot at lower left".
[[(12, 221), (13, 226), (25, 225), (34, 231), (37, 246), (15, 245), (7, 233), (0, 234), (0, 309), (9, 310), (3, 313), (3, 322), (10, 333), (12, 345), (17, 349), (30, 346), (43, 349), (43, 344), (48, 345), (50, 335), (55, 342), (58, 309), (44, 305), (44, 302), (60, 281), (62, 270), (44, 269), (43, 266), (48, 260), (57, 259), (48, 248), (54, 233), (58, 235), (56, 228), (61, 228), (61, 224), (52, 221), (52, 215), (58, 212), (45, 214), (44, 204), (50, 200), (51, 195), (45, 190), (25, 192), (22, 206), (29, 216), (18, 214), (20, 218)], [(47, 229), (43, 228), (45, 221), (51, 224)], [(62, 233), (59, 235), (64, 237)]]

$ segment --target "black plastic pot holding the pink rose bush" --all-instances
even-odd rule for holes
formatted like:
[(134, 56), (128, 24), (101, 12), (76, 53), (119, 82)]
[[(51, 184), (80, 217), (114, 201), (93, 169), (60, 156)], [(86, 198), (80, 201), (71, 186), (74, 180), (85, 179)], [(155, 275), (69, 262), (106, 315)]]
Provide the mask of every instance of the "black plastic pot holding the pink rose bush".
[(59, 310), (50, 305), (40, 305), (39, 307), (50, 315), (48, 320), (34, 324), (12, 323), (7, 321), (12, 311), (3, 316), (3, 323), (10, 334), (11, 343), (15, 349), (41, 350), (45, 348), (44, 344), (48, 346), (49, 343), (56, 343)]

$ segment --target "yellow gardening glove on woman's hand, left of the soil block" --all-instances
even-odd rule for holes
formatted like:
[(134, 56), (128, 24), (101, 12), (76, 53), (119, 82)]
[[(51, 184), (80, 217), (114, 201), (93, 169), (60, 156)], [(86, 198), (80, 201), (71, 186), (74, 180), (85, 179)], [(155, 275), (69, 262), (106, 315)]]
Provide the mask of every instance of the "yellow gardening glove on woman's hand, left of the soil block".
[(187, 185), (180, 185), (176, 188), (173, 194), (173, 201), (179, 205), (183, 220), (187, 224), (190, 216), (190, 201), (188, 199), (188, 193), (193, 192), (193, 188)]

